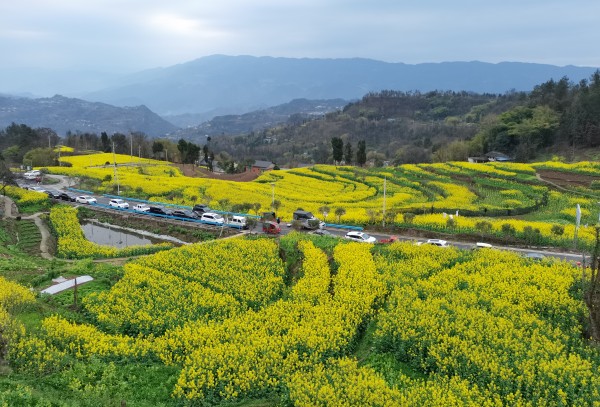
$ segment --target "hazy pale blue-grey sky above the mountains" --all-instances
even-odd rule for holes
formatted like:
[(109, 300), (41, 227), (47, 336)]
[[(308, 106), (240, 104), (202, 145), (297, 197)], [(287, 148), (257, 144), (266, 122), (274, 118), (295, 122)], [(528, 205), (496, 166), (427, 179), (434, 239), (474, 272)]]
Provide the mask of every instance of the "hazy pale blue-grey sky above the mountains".
[(600, 67), (592, 0), (3, 0), (0, 64), (115, 73), (212, 54)]

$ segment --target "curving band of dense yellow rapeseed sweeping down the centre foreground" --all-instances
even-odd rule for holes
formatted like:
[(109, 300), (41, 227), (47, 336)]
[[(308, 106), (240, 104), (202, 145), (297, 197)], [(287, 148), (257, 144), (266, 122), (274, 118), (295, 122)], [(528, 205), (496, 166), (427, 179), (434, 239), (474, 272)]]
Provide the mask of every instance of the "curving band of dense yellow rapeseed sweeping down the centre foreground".
[[(309, 246), (304, 250), (322, 265)], [(367, 245), (338, 245), (334, 258), (339, 268), (333, 296), (308, 296), (310, 303), (280, 300), (223, 323), (167, 333), (163, 359), (185, 361), (175, 396), (217, 401), (269, 393), (301, 367), (346, 351), (385, 286)]]

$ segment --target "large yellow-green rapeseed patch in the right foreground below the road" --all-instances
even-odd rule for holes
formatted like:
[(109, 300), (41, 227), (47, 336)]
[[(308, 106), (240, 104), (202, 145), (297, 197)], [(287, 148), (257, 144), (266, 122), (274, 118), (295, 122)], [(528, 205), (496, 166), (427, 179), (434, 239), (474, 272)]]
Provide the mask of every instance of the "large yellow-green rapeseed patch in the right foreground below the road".
[(503, 404), (598, 403), (600, 366), (579, 339), (584, 305), (569, 294), (579, 275), (566, 263), (525, 265), (516, 254), (482, 250), (411, 285), (400, 279), (376, 346)]

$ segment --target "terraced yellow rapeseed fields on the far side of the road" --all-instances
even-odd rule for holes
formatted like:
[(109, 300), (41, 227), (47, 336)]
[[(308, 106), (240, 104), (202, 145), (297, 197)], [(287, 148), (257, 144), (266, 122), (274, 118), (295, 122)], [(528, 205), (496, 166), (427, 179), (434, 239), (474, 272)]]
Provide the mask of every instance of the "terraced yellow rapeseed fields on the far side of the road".
[[(116, 186), (114, 168), (84, 168), (91, 164), (102, 165), (109, 161), (112, 155), (95, 155), (67, 157), (65, 160), (73, 163), (73, 167), (53, 167), (51, 172), (74, 176), (89, 176), (103, 180), (101, 192), (111, 192)], [(131, 161), (129, 156), (117, 156), (117, 161), (123, 164)], [(262, 174), (253, 182), (233, 183), (214, 179), (188, 178), (182, 176), (174, 167), (159, 165), (161, 161), (146, 160), (152, 165), (119, 166), (117, 168), (119, 184), (122, 190), (140, 196), (149, 196), (150, 200), (191, 206), (204, 202), (212, 207), (227, 210), (228, 205), (242, 203), (259, 203), (263, 209), (270, 208), (273, 195), (280, 201), (278, 215), (290, 219), (292, 213), (302, 207), (317, 214), (318, 209), (329, 206), (332, 211), (343, 207), (346, 214), (339, 219), (342, 223), (365, 223), (373, 220), (374, 213), (383, 207), (383, 178), (388, 179), (386, 204), (388, 211), (420, 212), (435, 206), (436, 211), (453, 212), (456, 210), (481, 211), (488, 209), (513, 209), (532, 206), (534, 197), (539, 192), (525, 194), (525, 200), (516, 198), (504, 200), (497, 205), (493, 199), (482, 201), (485, 191), (495, 188), (505, 188), (499, 184), (488, 186), (478, 184), (481, 189), (479, 196), (464, 183), (455, 182), (449, 175), (468, 175), (476, 177), (489, 176), (508, 177), (517, 172), (504, 171), (497, 166), (450, 163), (423, 164), (420, 166), (406, 165), (394, 171), (378, 171), (356, 169), (351, 167), (332, 167), (316, 165), (313, 168), (301, 168), (288, 171), (270, 171)], [(156, 164), (156, 165), (154, 165)], [(464, 173), (464, 174), (463, 174)], [(448, 175), (444, 175), (448, 174)], [(406, 177), (410, 177), (407, 180)], [(509, 188), (514, 189), (514, 188)], [(521, 202), (517, 202), (521, 201)], [(222, 203), (225, 206), (222, 207)], [(328, 219), (332, 220), (333, 214)], [(336, 220), (338, 221), (338, 220)]]

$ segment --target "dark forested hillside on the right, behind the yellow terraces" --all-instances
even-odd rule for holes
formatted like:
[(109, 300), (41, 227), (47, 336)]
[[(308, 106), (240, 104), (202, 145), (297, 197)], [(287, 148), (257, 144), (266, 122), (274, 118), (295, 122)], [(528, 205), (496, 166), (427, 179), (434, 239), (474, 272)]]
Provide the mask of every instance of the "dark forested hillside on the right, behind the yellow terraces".
[(369, 93), (321, 119), (215, 138), (212, 148), (236, 159), (331, 163), (334, 137), (354, 152), (365, 140), (368, 160), (376, 165), (465, 160), (489, 151), (518, 161), (548, 154), (572, 159), (600, 144), (600, 73), (577, 84), (565, 77), (503, 95)]

